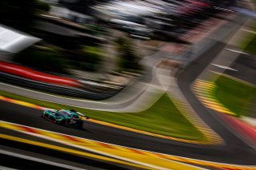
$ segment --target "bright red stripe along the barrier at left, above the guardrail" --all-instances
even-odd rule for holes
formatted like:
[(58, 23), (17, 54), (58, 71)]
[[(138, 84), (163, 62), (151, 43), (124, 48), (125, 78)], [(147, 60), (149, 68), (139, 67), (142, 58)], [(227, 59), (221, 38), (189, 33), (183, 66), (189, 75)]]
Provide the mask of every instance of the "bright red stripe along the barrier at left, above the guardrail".
[(55, 76), (48, 73), (42, 73), (29, 69), (21, 65), (14, 65), (9, 62), (0, 61), (0, 71), (26, 77), (35, 81), (44, 81), (58, 85), (81, 86), (81, 84), (72, 78)]

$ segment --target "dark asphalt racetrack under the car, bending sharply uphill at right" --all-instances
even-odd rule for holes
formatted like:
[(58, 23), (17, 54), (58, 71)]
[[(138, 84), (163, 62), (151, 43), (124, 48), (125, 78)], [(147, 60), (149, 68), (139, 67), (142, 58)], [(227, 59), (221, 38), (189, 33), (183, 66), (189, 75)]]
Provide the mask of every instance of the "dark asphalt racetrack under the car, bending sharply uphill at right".
[(256, 164), (255, 150), (250, 148), (250, 146), (243, 142), (237, 135), (234, 135), (233, 132), (230, 132), (225, 125), (222, 125), (222, 121), (218, 115), (213, 113), (210, 109), (206, 109), (190, 90), (190, 84), (198, 77), (199, 73), (202, 73), (206, 65), (217, 56), (225, 45), (225, 43), (216, 42), (216, 44), (208, 50), (210, 53), (208, 51), (202, 53), (202, 55), (198, 57), (198, 60), (194, 61), (184, 72), (179, 74), (178, 83), (187, 100), (190, 102), (190, 105), (192, 105), (198, 115), (202, 117), (215, 132), (218, 132), (218, 134), (222, 136), (226, 144), (218, 146), (187, 144), (107, 127), (105, 125), (98, 125), (93, 122), (88, 122), (86, 130), (84, 131), (74, 128), (64, 128), (43, 120), (40, 117), (42, 111), (21, 105), (14, 105), (5, 101), (0, 101), (1, 120), (153, 152), (162, 152), (230, 164), (254, 165)]

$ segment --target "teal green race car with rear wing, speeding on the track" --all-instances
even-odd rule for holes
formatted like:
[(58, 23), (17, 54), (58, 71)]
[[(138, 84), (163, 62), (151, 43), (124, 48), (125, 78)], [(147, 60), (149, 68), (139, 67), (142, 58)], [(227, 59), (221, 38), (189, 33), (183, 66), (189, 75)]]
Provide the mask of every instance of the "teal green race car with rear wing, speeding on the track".
[(42, 113), (42, 118), (46, 118), (48, 121), (66, 127), (83, 128), (84, 120), (90, 117), (86, 117), (82, 113), (76, 112), (74, 109), (46, 109)]

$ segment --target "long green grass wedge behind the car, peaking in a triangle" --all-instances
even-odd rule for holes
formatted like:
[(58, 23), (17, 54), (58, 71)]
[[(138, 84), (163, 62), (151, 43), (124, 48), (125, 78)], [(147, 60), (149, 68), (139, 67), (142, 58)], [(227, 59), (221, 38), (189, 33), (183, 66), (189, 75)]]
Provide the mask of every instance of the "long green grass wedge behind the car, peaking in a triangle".
[(167, 94), (162, 95), (150, 109), (141, 113), (112, 113), (93, 109), (82, 109), (48, 101), (39, 101), (4, 91), (0, 91), (0, 94), (5, 97), (27, 101), (51, 109), (76, 109), (78, 112), (84, 113), (86, 116), (99, 121), (106, 121), (115, 125), (122, 125), (146, 132), (154, 132), (160, 135), (173, 136), (186, 140), (204, 140), (202, 132), (198, 131), (190, 121), (186, 120), (174, 106), (174, 103), (170, 101), (170, 97)]

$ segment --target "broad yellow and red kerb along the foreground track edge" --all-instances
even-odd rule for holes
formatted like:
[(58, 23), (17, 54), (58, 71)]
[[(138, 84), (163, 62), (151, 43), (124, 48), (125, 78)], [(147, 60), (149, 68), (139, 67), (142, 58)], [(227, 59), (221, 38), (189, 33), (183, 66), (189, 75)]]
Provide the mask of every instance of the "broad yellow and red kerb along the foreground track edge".
[[(140, 161), (147, 161), (150, 164), (157, 164), (158, 166), (162, 166), (165, 168), (173, 168), (177, 169), (187, 169), (188, 166), (186, 164), (179, 164), (178, 162), (184, 162), (187, 164), (198, 164), (198, 165), (204, 165), (204, 166), (211, 166), (215, 168), (222, 168), (222, 169), (241, 169), (241, 170), (252, 170), (256, 169), (255, 166), (244, 166), (244, 165), (237, 165), (237, 164), (222, 164), (222, 163), (215, 163), (215, 162), (210, 162), (210, 161), (205, 161), (205, 160), (194, 160), (186, 157), (181, 157), (181, 156), (171, 156), (171, 155), (166, 155), (162, 153), (157, 153), (157, 152), (148, 152), (136, 148), (127, 148), (127, 147), (122, 147), (119, 145), (115, 144), (107, 144), (104, 142), (100, 141), (95, 141), (95, 140), (88, 140), (85, 138), (77, 137), (77, 136), (70, 136), (66, 134), (61, 134), (58, 132), (50, 132), (38, 128), (32, 128), (24, 125), (17, 125), (17, 124), (12, 124), (9, 122), (5, 121), (0, 121), (0, 127), (2, 128), (9, 128), (18, 132), (26, 132), (26, 133), (31, 133), (31, 134), (36, 134), (39, 136), (45, 136), (47, 138), (51, 138), (54, 140), (60, 140), (63, 142), (68, 142), (71, 144), (76, 144), (81, 147), (85, 148), (90, 148), (97, 150), (99, 152), (107, 152), (114, 154), (116, 156), (122, 156), (126, 157), (129, 159), (135, 159), (135, 160), (140, 160)], [(174, 161), (173, 161), (174, 160)], [(175, 168), (176, 167), (176, 168)], [(198, 169), (194, 166), (190, 167), (189, 169)]]

